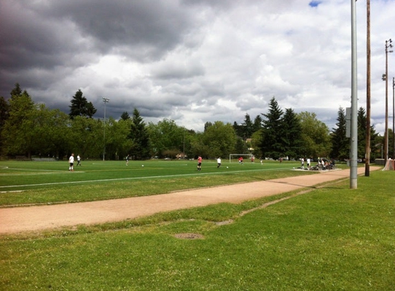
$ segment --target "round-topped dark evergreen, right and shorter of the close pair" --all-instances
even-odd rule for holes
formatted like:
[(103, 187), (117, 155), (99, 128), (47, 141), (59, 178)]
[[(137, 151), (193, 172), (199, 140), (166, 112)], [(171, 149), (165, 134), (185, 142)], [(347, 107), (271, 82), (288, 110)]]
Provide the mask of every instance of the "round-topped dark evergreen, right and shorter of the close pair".
[(291, 108), (285, 109), (283, 119), (283, 145), (285, 148), (285, 156), (287, 157), (299, 157), (301, 155), (301, 121), (298, 115)]

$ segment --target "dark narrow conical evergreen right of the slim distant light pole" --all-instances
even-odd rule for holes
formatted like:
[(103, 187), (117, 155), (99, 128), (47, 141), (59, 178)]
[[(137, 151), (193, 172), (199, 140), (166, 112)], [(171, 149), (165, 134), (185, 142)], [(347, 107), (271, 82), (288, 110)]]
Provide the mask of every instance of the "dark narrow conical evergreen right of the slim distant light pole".
[(150, 157), (150, 138), (143, 117), (140, 116), (140, 112), (136, 108), (133, 110), (129, 138), (133, 141), (133, 148), (130, 152), (132, 157), (148, 159)]

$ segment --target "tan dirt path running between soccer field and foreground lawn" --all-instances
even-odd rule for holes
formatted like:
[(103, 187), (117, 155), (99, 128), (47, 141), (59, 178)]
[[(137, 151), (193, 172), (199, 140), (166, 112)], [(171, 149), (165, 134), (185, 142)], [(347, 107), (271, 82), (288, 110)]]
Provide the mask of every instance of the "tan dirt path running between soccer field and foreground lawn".
[[(381, 167), (370, 167), (378, 170)], [(363, 174), (365, 168), (358, 168)], [(38, 231), (79, 224), (95, 224), (134, 219), (157, 212), (192, 208), (214, 203), (240, 203), (282, 192), (312, 187), (319, 183), (350, 177), (350, 170), (321, 172), (312, 176), (290, 177), (214, 188), (172, 192), (83, 203), (40, 205), (0, 209), (0, 234)]]

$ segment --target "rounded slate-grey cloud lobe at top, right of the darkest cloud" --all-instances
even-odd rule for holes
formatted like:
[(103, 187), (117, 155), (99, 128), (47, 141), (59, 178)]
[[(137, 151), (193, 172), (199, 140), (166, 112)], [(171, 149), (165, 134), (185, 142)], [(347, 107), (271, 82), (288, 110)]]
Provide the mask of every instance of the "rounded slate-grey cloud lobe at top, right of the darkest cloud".
[(72, 21), (101, 53), (129, 50), (136, 59), (161, 57), (194, 21), (193, 14), (174, 1), (53, 1), (36, 12), (39, 17)]

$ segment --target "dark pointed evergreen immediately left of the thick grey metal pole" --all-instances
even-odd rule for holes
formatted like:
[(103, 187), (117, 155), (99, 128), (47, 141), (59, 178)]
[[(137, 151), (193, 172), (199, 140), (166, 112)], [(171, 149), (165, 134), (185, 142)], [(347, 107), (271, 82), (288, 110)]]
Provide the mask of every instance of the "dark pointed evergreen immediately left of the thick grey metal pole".
[(338, 109), (336, 128), (332, 128), (332, 150), (330, 156), (333, 159), (347, 159), (350, 157), (350, 139), (345, 137), (345, 110)]

